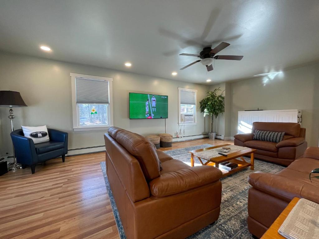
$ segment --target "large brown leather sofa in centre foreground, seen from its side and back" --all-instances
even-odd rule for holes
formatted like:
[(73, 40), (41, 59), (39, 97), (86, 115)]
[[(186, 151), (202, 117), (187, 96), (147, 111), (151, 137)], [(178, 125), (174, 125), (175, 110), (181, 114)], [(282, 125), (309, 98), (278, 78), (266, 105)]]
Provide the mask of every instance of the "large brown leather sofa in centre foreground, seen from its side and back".
[(128, 239), (185, 238), (218, 219), (219, 169), (190, 167), (121, 128), (109, 128), (104, 138), (108, 181)]

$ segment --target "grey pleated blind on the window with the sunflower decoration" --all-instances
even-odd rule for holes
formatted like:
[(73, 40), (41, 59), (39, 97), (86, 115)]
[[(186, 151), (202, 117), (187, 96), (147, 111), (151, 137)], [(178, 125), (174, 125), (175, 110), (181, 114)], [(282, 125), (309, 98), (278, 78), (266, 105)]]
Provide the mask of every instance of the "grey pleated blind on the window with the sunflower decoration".
[(109, 83), (105, 80), (94, 80), (76, 77), (76, 103), (109, 104)]

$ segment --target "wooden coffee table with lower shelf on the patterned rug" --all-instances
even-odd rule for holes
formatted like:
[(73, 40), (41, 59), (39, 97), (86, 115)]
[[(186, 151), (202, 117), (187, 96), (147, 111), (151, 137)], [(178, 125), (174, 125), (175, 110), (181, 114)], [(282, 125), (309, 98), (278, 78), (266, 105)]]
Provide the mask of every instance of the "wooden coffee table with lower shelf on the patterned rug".
[[(196, 150), (189, 151), (189, 153), (191, 154), (190, 165), (192, 167), (194, 167), (194, 153), (210, 150), (210, 149), (213, 149), (213, 148), (221, 148), (221, 147), (225, 147), (225, 146), (229, 146), (229, 145), (230, 144), (223, 144), (223, 145), (219, 145), (219, 146), (213, 146), (213, 147), (209, 147), (209, 148), (201, 148), (201, 149), (196, 149)], [(221, 155), (219, 157), (213, 157), (213, 158), (210, 158), (210, 160), (207, 160), (207, 159), (204, 159), (204, 158), (200, 158), (198, 156), (196, 156), (196, 157), (198, 158), (199, 162), (202, 165), (210, 165), (210, 166), (215, 166), (217, 168), (219, 168), (219, 163), (223, 163), (223, 162), (226, 162), (226, 161), (238, 164), (237, 168), (235, 168), (233, 170), (230, 170), (230, 171), (220, 169), (223, 172), (223, 177), (225, 177), (227, 175), (230, 175), (230, 174), (233, 174), (235, 172), (238, 172), (238, 171), (240, 171), (240, 170), (242, 170), (244, 168), (247, 168), (249, 166), (250, 166), (251, 170), (254, 170), (254, 152), (255, 151), (256, 151), (256, 149), (254, 149), (254, 148), (248, 148), (248, 149), (244, 149), (244, 150), (241, 150), (241, 151), (238, 151), (238, 152), (234, 152), (234, 153), (228, 154), (227, 156), (222, 156)], [(243, 156), (250, 156), (250, 163), (246, 162), (245, 159), (243, 158)], [(240, 160), (237, 159), (237, 158), (240, 158)], [(204, 163), (203, 160), (205, 160), (207, 162)]]

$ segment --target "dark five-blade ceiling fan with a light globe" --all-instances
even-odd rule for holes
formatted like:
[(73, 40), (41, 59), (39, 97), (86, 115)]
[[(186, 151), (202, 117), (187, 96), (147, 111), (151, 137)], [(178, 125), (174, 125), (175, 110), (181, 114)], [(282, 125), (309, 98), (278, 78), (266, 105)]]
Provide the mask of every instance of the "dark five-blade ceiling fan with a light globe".
[(244, 56), (242, 56), (242, 55), (217, 55), (217, 56), (215, 56), (218, 52), (220, 52), (224, 48), (228, 47), (229, 45), (230, 45), (229, 43), (222, 42), (214, 49), (211, 49), (211, 47), (204, 47), (203, 50), (199, 53), (199, 55), (187, 54), (187, 53), (180, 54), (180, 55), (196, 56), (196, 57), (199, 57), (201, 59), (201, 60), (197, 60), (196, 62), (190, 63), (187, 66), (184, 66), (180, 70), (183, 70), (191, 65), (194, 65), (197, 62), (201, 62), (204, 66), (206, 66), (207, 71), (211, 71), (211, 70), (213, 70), (213, 66), (212, 66), (213, 59), (240, 61)]

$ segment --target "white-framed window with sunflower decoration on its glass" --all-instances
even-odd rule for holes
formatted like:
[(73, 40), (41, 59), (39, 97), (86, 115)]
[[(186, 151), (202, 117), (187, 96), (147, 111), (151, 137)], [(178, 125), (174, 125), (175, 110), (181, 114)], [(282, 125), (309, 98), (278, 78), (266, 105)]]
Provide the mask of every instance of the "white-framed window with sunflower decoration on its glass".
[(112, 78), (71, 73), (73, 129), (102, 130), (113, 125)]

